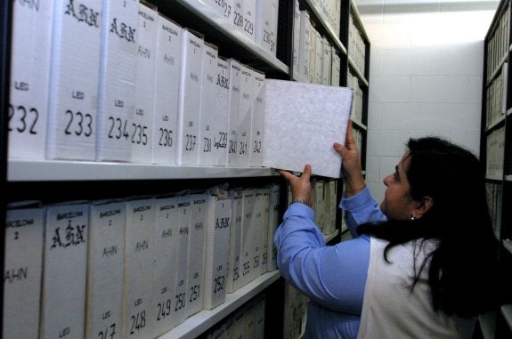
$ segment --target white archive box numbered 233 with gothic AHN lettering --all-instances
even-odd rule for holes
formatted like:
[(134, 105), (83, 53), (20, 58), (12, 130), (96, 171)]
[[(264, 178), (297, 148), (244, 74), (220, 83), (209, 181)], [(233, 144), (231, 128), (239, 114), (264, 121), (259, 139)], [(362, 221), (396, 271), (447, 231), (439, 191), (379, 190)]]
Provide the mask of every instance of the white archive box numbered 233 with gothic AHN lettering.
[(102, 3), (58, 0), (54, 11), (46, 158), (94, 160)]

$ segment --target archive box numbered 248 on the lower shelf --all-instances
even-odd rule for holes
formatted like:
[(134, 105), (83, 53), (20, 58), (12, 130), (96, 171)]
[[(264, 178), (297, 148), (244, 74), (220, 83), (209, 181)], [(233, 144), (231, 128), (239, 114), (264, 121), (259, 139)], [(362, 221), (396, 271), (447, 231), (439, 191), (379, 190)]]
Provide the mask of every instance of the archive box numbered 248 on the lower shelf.
[(123, 287), (123, 337), (153, 336), (155, 311), (151, 307), (156, 255), (155, 198), (126, 200), (125, 282)]

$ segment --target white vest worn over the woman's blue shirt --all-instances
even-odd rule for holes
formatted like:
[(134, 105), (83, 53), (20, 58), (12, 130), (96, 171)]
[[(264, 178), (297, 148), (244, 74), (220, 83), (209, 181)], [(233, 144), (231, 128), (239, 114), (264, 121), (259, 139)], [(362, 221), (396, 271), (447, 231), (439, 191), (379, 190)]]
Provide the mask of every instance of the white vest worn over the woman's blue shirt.
[[(419, 269), (426, 254), (435, 249), (427, 240), (394, 246), (384, 259), (386, 240), (370, 237), (370, 265), (362, 302), (358, 339), (471, 338), (475, 319), (461, 319), (435, 312), (428, 286), (428, 263), (421, 280), (410, 293), (414, 277), (413, 255)], [(417, 244), (417, 246), (415, 246)]]

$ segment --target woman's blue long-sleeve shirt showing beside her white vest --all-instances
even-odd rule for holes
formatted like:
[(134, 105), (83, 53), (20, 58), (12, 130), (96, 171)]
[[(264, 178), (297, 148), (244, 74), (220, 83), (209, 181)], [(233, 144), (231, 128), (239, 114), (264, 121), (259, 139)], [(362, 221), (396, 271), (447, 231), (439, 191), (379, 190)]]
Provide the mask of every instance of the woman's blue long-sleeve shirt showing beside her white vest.
[(311, 300), (305, 338), (355, 338), (359, 329), (370, 238), (357, 237), (355, 230), (386, 216), (368, 189), (343, 198), (339, 206), (347, 211), (353, 239), (326, 246), (313, 209), (299, 203), (289, 206), (274, 236), (281, 275)]

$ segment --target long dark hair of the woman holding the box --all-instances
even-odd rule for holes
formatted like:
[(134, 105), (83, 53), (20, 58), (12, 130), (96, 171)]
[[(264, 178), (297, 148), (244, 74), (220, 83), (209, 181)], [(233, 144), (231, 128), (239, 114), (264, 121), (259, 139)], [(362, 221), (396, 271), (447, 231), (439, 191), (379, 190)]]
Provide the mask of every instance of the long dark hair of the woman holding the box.
[[(484, 165), (469, 152), (436, 137), (410, 139), (410, 198), (433, 200), (432, 208), (414, 221), (388, 220), (358, 228), (389, 241), (385, 250), (414, 239), (438, 239), (428, 282), (436, 311), (471, 317), (497, 307), (498, 242), (492, 231), (484, 182)], [(419, 281), (425, 262), (414, 277)]]

